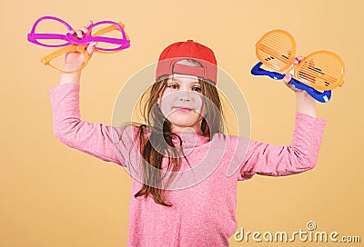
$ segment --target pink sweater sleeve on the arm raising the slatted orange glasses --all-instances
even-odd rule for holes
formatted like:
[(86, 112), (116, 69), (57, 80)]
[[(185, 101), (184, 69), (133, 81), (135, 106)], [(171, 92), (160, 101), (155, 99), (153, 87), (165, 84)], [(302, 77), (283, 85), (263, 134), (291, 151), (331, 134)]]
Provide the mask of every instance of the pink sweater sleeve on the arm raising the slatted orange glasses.
[(318, 160), (325, 126), (326, 120), (308, 114), (296, 114), (290, 145), (250, 141), (238, 180), (247, 180), (256, 173), (285, 176), (312, 169)]

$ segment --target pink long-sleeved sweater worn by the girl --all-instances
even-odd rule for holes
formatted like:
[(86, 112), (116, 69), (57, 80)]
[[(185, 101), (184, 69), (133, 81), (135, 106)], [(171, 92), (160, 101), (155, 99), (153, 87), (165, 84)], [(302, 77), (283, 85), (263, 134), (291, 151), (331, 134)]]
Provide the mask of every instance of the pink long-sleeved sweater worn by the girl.
[(126, 133), (134, 136), (135, 129), (125, 128), (123, 142), (117, 142), (120, 127), (81, 121), (79, 90), (79, 84), (60, 84), (49, 90), (54, 133), (62, 143), (121, 164), (132, 174), (127, 246), (228, 246), (228, 238), (238, 227), (238, 181), (256, 173), (283, 176), (312, 169), (326, 125), (325, 120), (297, 114), (292, 141), (284, 146), (221, 133), (211, 139), (179, 133), (193, 169), (183, 160), (182, 175), (166, 193), (167, 203), (173, 206), (166, 207), (150, 196), (134, 197), (142, 186), (140, 156), (137, 143)]

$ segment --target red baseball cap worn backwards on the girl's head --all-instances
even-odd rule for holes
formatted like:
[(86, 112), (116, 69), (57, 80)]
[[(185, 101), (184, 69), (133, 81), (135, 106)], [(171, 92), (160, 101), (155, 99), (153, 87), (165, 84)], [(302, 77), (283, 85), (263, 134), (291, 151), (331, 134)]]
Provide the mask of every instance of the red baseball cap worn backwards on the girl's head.
[[(196, 60), (202, 67), (176, 64), (181, 60)], [(169, 74), (188, 74), (203, 77), (212, 84), (217, 84), (217, 60), (214, 52), (203, 44), (193, 40), (168, 45), (160, 54), (157, 64), (156, 80)]]

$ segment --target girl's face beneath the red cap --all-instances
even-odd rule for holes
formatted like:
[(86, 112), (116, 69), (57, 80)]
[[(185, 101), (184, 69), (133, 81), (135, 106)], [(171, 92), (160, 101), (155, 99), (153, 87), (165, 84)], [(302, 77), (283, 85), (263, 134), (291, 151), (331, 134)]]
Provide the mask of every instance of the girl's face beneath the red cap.
[(188, 131), (186, 128), (192, 128), (195, 132), (201, 132), (205, 111), (203, 98), (196, 76), (173, 74), (173, 77), (168, 79), (158, 104), (162, 113), (172, 123), (173, 131)]

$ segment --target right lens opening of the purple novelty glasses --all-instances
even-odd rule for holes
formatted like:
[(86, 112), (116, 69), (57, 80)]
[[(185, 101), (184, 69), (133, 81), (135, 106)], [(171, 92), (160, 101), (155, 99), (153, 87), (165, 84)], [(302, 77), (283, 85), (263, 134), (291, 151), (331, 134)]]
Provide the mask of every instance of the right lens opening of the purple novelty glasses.
[(113, 52), (121, 48), (127, 48), (126, 39), (116, 25), (101, 24), (92, 28), (92, 35), (99, 37), (96, 49)]

